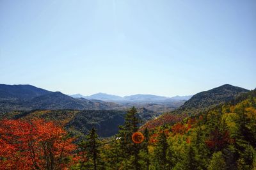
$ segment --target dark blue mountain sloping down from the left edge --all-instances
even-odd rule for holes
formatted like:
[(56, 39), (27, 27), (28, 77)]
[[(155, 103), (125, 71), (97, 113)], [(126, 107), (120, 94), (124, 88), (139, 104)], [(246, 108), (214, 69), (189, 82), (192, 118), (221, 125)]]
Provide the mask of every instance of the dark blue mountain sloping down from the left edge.
[(84, 98), (72, 98), (61, 92), (52, 92), (30, 85), (0, 86), (0, 110), (32, 109), (115, 109), (118, 104), (91, 101)]

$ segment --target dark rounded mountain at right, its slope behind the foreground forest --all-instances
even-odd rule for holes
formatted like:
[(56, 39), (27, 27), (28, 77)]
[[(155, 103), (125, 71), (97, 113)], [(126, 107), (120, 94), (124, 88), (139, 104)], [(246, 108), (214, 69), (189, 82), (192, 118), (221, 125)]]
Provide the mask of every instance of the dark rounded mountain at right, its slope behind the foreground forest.
[(248, 91), (248, 89), (239, 88), (230, 84), (224, 84), (218, 88), (202, 91), (196, 95), (193, 95), (193, 97), (181, 105), (179, 109), (166, 112), (159, 116), (156, 120), (148, 121), (145, 125), (143, 125), (143, 127), (154, 128), (165, 123), (175, 123), (185, 118), (186, 115), (206, 112), (209, 109), (216, 107), (216, 105), (229, 102)]

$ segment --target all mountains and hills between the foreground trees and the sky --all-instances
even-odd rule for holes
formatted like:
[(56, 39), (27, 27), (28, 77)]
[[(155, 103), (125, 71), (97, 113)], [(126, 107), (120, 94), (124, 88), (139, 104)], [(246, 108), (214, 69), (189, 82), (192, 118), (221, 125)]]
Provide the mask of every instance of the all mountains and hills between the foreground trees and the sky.
[[(118, 125), (124, 123), (127, 107), (135, 105), (143, 123), (147, 121), (143, 127), (150, 128), (181, 121), (189, 114), (207, 111), (247, 91), (247, 89), (225, 84), (197, 93), (188, 101), (185, 101), (186, 97), (132, 95), (124, 97), (126, 100), (116, 100), (124, 101), (116, 104), (96, 98), (104, 96), (106, 100), (106, 95), (103, 93), (94, 95), (95, 99), (86, 99), (79, 95), (77, 95), (79, 98), (73, 98), (61, 92), (47, 91), (31, 85), (0, 84), (0, 119), (45, 118), (65, 122), (68, 129), (74, 128), (77, 133), (86, 134), (88, 130), (95, 127), (101, 137), (109, 137), (117, 132)], [(113, 95), (107, 96), (114, 98)], [(154, 100), (156, 101), (150, 102)], [(162, 114), (163, 112), (165, 113)]]

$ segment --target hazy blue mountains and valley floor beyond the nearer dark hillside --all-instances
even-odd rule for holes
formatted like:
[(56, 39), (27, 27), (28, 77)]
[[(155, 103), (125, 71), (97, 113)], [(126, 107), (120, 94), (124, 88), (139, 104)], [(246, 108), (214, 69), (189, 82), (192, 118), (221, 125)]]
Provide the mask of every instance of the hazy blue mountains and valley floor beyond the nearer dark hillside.
[(118, 97), (105, 93), (97, 93), (89, 97), (83, 95), (65, 95), (31, 85), (0, 84), (0, 111), (29, 111), (33, 109), (125, 109), (136, 106), (145, 107), (149, 111), (161, 114), (173, 111), (185, 100), (159, 97), (156, 95), (132, 95)]

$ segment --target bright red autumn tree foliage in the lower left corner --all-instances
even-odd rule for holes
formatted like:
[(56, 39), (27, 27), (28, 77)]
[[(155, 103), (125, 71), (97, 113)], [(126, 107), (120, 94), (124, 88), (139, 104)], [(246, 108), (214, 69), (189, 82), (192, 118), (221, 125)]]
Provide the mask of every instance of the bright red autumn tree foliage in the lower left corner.
[(76, 149), (73, 140), (52, 122), (1, 120), (0, 169), (65, 169)]

